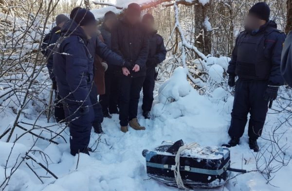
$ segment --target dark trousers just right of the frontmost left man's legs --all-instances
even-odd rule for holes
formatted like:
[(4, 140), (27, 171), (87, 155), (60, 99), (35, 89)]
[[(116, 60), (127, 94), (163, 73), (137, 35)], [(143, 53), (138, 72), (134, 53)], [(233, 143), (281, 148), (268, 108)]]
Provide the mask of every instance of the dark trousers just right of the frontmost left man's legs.
[(90, 101), (92, 104), (92, 108), (94, 111), (94, 120), (92, 122), (93, 127), (97, 124), (97, 123), (102, 123), (103, 122), (103, 113), (102, 113), (102, 107), (100, 105), (100, 103), (97, 100), (97, 87), (96, 85), (93, 83), (92, 87), (91, 87), (91, 92), (89, 94), (90, 97)]

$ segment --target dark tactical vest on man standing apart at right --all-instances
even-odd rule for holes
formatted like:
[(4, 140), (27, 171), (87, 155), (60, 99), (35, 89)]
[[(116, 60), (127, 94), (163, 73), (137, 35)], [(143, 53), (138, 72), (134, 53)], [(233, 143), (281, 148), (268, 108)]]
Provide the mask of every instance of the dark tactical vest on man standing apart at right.
[(273, 27), (256, 35), (243, 32), (238, 39), (236, 74), (239, 78), (268, 80), (272, 68), (272, 52), (267, 50), (267, 36), (279, 32)]

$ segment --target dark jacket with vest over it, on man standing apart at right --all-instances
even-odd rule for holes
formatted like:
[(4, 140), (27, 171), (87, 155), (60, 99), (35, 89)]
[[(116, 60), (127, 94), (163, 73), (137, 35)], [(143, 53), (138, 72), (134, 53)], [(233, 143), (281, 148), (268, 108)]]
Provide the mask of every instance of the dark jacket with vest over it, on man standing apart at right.
[(274, 21), (267, 22), (256, 33), (241, 32), (227, 73), (241, 79), (267, 80), (270, 85), (283, 85), (280, 63), (285, 37)]

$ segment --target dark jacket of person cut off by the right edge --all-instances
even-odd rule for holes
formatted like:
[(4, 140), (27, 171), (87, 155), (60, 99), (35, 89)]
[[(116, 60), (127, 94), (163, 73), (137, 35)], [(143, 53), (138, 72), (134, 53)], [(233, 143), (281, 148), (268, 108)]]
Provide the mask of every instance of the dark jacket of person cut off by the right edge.
[(292, 32), (290, 32), (284, 42), (282, 52), (281, 73), (285, 81), (292, 87)]

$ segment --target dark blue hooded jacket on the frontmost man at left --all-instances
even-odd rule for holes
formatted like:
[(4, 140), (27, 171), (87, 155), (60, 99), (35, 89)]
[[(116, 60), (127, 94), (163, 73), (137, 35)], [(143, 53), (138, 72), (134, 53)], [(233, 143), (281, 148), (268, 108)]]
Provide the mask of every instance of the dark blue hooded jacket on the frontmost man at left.
[(88, 38), (72, 19), (61, 29), (54, 53), (54, 73), (59, 95), (76, 104), (91, 105), (89, 93), (93, 80), (93, 57), (87, 49)]

